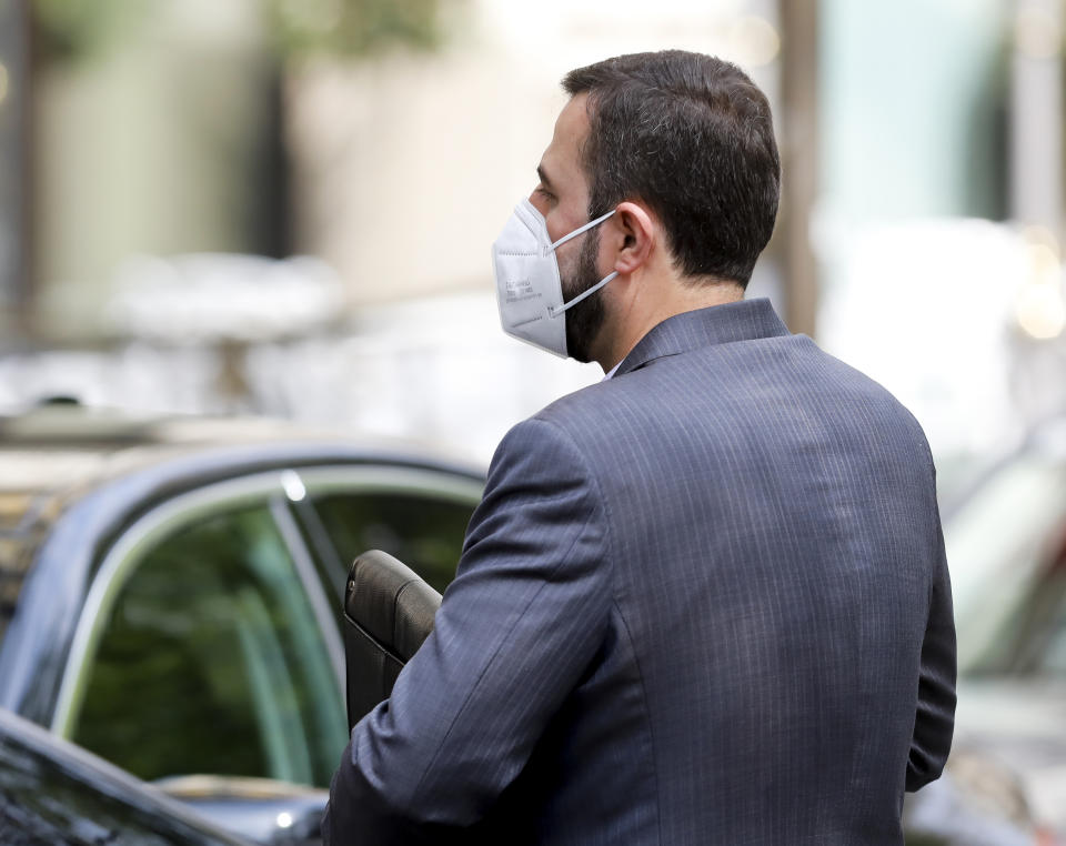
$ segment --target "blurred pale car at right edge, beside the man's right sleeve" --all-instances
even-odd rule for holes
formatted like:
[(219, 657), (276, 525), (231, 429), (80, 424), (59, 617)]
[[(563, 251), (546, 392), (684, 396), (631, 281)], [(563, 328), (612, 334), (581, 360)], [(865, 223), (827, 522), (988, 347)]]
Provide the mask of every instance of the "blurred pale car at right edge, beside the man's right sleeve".
[[(943, 507), (955, 741), (946, 777), (909, 799), (912, 826), (958, 846), (1064, 844), (1066, 421), (1034, 429), (968, 475)], [(988, 825), (958, 826), (961, 808)]]

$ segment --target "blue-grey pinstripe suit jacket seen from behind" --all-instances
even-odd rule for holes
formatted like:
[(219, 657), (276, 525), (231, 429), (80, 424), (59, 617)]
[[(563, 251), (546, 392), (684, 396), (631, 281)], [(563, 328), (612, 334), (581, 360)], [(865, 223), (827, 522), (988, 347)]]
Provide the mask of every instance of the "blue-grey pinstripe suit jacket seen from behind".
[(353, 729), (324, 827), (899, 844), (954, 681), (918, 424), (765, 300), (690, 312), (501, 443), (435, 631)]

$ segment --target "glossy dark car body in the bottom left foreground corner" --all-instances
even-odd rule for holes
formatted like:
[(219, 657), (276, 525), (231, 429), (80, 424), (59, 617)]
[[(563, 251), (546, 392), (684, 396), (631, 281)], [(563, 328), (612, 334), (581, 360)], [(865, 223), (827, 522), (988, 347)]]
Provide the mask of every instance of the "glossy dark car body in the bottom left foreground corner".
[(184, 805), (0, 709), (0, 843), (241, 846)]

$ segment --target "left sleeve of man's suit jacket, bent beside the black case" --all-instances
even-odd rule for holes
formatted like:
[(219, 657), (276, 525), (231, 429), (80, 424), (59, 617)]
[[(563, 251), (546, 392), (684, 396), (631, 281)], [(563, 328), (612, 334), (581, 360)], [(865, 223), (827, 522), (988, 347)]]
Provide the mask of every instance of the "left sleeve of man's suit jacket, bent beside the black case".
[(603, 507), (562, 430), (507, 434), (432, 635), (352, 729), (328, 842), (435, 842), (515, 778), (606, 631)]

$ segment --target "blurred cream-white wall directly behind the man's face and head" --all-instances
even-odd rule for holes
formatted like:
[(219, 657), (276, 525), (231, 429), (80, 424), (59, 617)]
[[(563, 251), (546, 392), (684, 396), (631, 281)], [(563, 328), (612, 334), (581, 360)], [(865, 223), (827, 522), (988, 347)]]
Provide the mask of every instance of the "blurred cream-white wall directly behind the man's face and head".
[(684, 48), (737, 61), (776, 99), (772, 0), (479, 0), (443, 51), (299, 68), (286, 103), (299, 249), (353, 304), (491, 285), (489, 248), (535, 184), (572, 68)]

